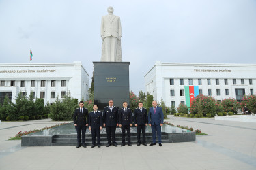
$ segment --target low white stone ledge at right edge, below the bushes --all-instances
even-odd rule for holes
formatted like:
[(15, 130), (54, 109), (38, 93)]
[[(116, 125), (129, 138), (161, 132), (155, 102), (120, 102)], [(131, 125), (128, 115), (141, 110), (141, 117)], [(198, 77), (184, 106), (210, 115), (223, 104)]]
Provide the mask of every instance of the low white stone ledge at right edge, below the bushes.
[(253, 122), (256, 123), (255, 115), (244, 115), (244, 116), (215, 116), (215, 120), (227, 120), (234, 122)]

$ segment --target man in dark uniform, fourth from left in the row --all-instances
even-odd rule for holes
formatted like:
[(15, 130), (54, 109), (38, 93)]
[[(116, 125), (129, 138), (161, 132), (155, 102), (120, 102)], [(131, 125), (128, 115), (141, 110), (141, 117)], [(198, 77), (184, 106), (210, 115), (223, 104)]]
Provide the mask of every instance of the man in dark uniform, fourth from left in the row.
[(125, 146), (125, 133), (127, 131), (128, 146), (132, 146), (130, 143), (130, 127), (132, 126), (132, 110), (127, 108), (127, 102), (123, 102), (122, 109), (119, 109), (119, 127), (122, 129), (122, 144)]

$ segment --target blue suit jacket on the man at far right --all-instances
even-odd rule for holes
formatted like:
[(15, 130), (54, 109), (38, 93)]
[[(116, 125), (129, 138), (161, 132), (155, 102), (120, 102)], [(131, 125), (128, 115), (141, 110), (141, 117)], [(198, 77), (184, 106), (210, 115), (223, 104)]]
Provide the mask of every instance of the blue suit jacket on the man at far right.
[(154, 107), (150, 107), (150, 111), (148, 113), (148, 123), (152, 125), (160, 125), (164, 123), (162, 107), (156, 107), (156, 114), (154, 114)]

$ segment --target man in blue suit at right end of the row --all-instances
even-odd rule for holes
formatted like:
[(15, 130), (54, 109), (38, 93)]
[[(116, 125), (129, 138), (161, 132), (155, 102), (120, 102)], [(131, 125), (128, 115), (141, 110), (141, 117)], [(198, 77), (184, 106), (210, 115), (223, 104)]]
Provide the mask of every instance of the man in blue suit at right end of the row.
[(164, 123), (164, 114), (162, 112), (162, 108), (157, 106), (156, 101), (153, 101), (152, 105), (153, 107), (150, 107), (150, 111), (148, 113), (148, 123), (152, 129), (152, 143), (150, 146), (156, 145), (156, 132), (159, 146), (162, 146), (161, 126)]

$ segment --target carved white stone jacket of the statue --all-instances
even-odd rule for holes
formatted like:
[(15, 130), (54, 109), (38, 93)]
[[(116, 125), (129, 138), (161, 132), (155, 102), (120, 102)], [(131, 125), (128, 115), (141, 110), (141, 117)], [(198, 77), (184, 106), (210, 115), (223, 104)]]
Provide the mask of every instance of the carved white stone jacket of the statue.
[(112, 15), (106, 15), (102, 16), (101, 19), (101, 29), (100, 29), (100, 35), (105, 37), (121, 37), (121, 21), (119, 16)]

